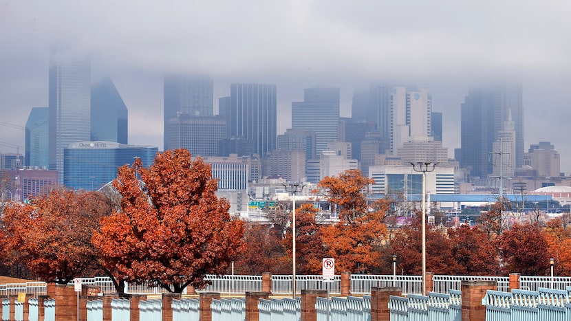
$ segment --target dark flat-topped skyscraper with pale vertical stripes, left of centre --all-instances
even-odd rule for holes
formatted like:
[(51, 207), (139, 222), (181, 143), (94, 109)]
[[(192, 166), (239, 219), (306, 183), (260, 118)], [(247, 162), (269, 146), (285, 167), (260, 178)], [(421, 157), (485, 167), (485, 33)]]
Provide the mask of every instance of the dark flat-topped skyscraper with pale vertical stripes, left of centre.
[(230, 86), (230, 137), (254, 142), (254, 153), (266, 157), (276, 149), (276, 85), (235, 83)]

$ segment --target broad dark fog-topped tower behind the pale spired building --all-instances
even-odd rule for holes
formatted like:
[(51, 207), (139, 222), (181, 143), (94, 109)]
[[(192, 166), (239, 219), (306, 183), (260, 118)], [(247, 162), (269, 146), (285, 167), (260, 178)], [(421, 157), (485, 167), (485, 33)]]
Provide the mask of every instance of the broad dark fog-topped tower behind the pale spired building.
[(515, 128), (515, 166), (523, 164), (524, 107), (521, 85), (502, 85), (471, 89), (461, 107), (460, 166), (470, 170), (473, 177), (493, 173), (488, 153), (504, 127), (511, 111)]

